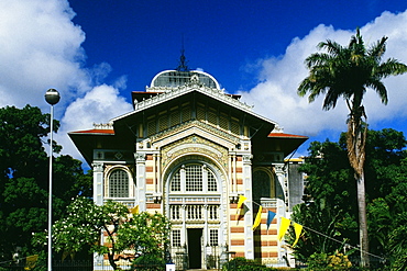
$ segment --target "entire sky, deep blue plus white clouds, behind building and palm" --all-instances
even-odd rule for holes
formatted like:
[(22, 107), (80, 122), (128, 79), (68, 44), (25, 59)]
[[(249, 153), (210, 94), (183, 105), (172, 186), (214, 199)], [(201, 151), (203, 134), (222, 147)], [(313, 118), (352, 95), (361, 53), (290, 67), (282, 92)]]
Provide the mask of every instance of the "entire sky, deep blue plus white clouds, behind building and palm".
[[(178, 65), (184, 37), (188, 66), (242, 94), (256, 113), (309, 142), (337, 140), (348, 110), (339, 102), (324, 112), (322, 97), (309, 104), (296, 94), (304, 59), (327, 38), (346, 45), (360, 27), (367, 44), (388, 36), (385, 58), (407, 63), (406, 9), (405, 0), (2, 0), (0, 106), (48, 112), (44, 93), (58, 89), (56, 139), (80, 158), (67, 132), (131, 111), (130, 92)], [(371, 128), (407, 133), (407, 75), (385, 83), (387, 106), (375, 93), (365, 99)]]

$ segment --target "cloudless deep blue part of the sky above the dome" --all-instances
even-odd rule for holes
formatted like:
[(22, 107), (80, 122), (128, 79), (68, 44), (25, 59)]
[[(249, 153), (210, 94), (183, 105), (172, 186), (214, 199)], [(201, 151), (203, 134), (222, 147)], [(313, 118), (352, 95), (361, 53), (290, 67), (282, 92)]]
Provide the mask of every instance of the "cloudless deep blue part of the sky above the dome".
[(278, 57), (295, 37), (319, 24), (354, 30), (406, 1), (127, 1), (70, 0), (82, 27), (87, 64), (108, 63), (110, 79), (128, 76), (129, 90), (144, 90), (162, 69), (177, 66), (182, 39), (190, 68), (213, 75), (230, 92), (257, 82), (257, 59)]

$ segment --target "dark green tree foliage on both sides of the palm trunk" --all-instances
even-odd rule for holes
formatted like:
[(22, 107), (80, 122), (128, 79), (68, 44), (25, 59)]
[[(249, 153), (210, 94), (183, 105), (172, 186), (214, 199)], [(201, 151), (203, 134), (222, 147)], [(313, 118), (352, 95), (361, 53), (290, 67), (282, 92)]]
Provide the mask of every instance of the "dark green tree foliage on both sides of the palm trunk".
[[(400, 132), (369, 131), (365, 174), (370, 180), (366, 197), (371, 252), (387, 259), (392, 267), (400, 266), (398, 270), (407, 267), (407, 242), (402, 234), (407, 223), (406, 146)], [(295, 247), (297, 257), (333, 253), (344, 244), (356, 247), (358, 204), (345, 134), (339, 143), (311, 143), (301, 170), (308, 176), (308, 197), (295, 208), (293, 219), (340, 242), (306, 230)]]

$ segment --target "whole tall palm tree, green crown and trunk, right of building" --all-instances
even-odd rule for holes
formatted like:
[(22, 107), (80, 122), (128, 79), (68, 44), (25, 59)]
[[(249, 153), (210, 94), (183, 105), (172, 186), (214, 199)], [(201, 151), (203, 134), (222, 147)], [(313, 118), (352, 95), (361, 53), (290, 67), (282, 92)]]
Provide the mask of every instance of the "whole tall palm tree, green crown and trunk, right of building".
[(333, 109), (340, 97), (346, 101), (350, 111), (346, 147), (358, 187), (361, 263), (363, 267), (370, 266), (363, 172), (367, 117), (362, 103), (363, 95), (367, 89), (373, 89), (382, 99), (382, 103), (387, 104), (387, 90), (382, 79), (407, 71), (407, 66), (394, 58), (382, 61), (386, 50), (386, 41), (387, 37), (384, 36), (366, 48), (358, 29), (356, 35), (351, 37), (348, 47), (330, 39), (319, 43), (318, 48), (326, 49), (326, 53), (315, 53), (305, 60), (309, 75), (298, 87), (299, 95), (304, 97), (309, 93), (309, 102), (315, 101), (319, 94), (326, 94), (323, 110)]

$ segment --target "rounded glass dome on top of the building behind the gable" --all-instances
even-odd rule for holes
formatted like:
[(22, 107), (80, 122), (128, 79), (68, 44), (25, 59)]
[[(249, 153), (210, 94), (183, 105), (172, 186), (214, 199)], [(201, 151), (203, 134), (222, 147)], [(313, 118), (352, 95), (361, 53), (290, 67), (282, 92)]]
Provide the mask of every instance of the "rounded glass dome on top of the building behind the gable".
[(218, 81), (209, 74), (200, 70), (164, 70), (151, 81), (150, 88), (176, 88), (188, 83), (193, 76), (208, 88), (220, 89)]

